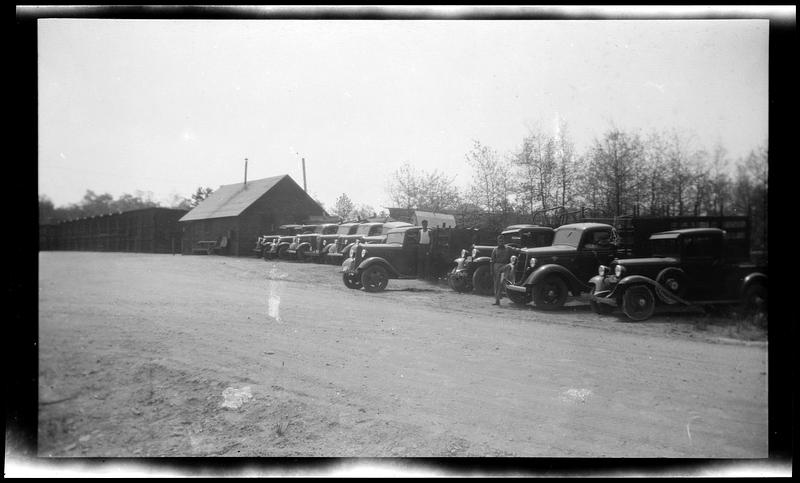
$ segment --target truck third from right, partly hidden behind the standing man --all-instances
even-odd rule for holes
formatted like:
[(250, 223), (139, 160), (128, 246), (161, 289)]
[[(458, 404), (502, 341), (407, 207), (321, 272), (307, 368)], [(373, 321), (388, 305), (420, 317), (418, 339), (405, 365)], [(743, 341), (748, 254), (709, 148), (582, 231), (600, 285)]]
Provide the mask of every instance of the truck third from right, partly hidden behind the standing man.
[[(539, 225), (511, 225), (501, 234), (506, 245), (514, 248), (549, 246), (553, 242), (554, 230)], [(472, 245), (471, 250), (461, 250), (455, 260), (456, 266), (448, 275), (450, 287), (457, 292), (474, 291), (478, 294), (492, 293), (492, 251), (497, 245)]]

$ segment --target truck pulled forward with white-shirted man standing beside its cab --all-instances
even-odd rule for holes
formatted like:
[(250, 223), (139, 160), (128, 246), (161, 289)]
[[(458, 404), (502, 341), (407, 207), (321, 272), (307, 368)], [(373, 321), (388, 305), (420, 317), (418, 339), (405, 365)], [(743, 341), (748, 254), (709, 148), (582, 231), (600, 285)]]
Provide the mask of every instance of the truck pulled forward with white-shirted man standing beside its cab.
[(357, 242), (342, 263), (342, 280), (347, 288), (380, 292), (389, 279), (416, 278), (420, 226), (395, 228), (386, 243)]

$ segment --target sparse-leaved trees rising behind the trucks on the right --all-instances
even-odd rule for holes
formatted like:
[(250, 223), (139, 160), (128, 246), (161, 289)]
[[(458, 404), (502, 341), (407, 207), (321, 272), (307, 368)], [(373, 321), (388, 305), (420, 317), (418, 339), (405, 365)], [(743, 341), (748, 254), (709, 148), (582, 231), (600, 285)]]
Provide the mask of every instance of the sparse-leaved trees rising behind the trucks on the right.
[(455, 174), (405, 163), (387, 192), (400, 208), (488, 213), (496, 219), (584, 208), (594, 217), (747, 215), (754, 247), (767, 244), (768, 151), (759, 146), (732, 159), (707, 150), (691, 133), (642, 135), (616, 127), (579, 153), (566, 123), (555, 133), (530, 128), (519, 146), (500, 154), (479, 141), (465, 155), (465, 189)]

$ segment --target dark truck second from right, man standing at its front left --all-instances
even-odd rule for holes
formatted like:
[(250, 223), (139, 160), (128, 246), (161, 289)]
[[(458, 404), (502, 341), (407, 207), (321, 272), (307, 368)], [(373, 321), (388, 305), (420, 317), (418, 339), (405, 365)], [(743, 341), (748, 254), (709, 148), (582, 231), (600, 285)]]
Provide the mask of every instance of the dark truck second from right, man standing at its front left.
[(589, 292), (598, 265), (618, 258), (616, 229), (604, 223), (572, 223), (556, 228), (547, 247), (524, 248), (517, 255), (506, 295), (515, 304), (533, 301), (537, 308), (562, 307), (569, 295)]

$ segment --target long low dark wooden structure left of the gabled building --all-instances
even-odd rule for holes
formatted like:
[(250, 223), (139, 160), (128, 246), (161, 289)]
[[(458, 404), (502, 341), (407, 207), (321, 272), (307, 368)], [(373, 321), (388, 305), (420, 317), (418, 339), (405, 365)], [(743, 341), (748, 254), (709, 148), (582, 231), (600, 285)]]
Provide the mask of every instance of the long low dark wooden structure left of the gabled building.
[(180, 253), (186, 210), (142, 208), (39, 227), (40, 250)]

